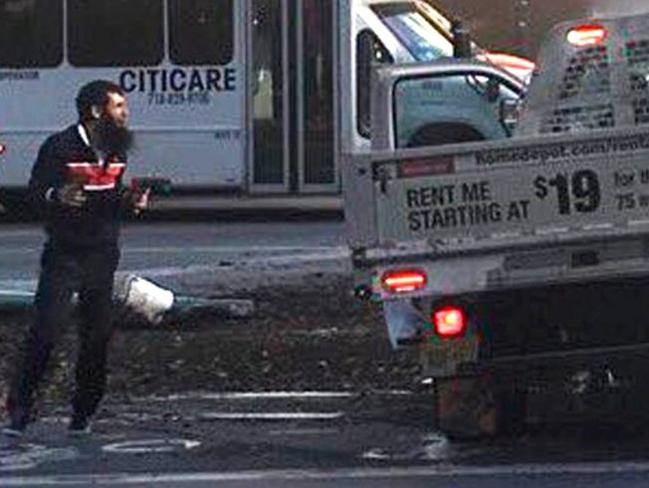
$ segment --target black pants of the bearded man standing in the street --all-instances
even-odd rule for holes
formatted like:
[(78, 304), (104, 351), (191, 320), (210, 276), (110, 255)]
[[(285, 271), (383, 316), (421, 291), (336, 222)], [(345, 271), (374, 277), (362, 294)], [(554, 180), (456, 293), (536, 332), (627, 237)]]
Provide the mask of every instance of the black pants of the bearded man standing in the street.
[(106, 386), (106, 353), (112, 335), (113, 277), (119, 261), (117, 245), (73, 247), (48, 242), (41, 257), (36, 292), (36, 319), (25, 338), (7, 398), (12, 422), (26, 425), (39, 381), (45, 373), (56, 338), (70, 320), (72, 298), (79, 297), (76, 416), (88, 417), (97, 409)]

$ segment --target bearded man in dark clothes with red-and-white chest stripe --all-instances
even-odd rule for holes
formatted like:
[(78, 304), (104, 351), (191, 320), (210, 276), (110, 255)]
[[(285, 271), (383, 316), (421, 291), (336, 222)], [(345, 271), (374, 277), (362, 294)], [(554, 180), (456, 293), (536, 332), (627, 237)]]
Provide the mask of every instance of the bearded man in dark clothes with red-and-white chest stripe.
[(29, 182), (31, 198), (44, 216), (47, 241), (36, 317), (7, 397), (6, 436), (21, 437), (32, 420), (38, 383), (69, 320), (75, 292), (80, 322), (69, 432), (90, 432), (90, 418), (106, 385), (120, 218), (125, 210), (143, 210), (148, 204), (148, 192), (134, 194), (122, 186), (132, 141), (124, 91), (96, 80), (79, 90), (76, 105), (78, 123), (43, 143)]

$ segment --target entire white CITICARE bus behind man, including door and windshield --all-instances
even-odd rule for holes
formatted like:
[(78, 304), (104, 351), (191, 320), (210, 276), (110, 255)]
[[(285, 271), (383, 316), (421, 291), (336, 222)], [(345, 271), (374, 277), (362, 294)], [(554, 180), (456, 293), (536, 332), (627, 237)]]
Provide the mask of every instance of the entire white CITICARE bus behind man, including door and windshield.
[(368, 140), (368, 66), (447, 56), (449, 26), (423, 0), (0, 0), (0, 201), (97, 78), (128, 93), (130, 176), (337, 192), (339, 134)]

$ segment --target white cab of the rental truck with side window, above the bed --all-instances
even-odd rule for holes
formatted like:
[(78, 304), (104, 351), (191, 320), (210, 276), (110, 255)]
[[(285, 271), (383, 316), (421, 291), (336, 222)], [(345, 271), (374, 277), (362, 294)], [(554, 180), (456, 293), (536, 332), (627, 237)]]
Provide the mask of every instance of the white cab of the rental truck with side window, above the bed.
[(526, 85), (477, 60), (438, 60), (376, 71), (372, 148), (493, 140), (509, 137), (511, 108)]

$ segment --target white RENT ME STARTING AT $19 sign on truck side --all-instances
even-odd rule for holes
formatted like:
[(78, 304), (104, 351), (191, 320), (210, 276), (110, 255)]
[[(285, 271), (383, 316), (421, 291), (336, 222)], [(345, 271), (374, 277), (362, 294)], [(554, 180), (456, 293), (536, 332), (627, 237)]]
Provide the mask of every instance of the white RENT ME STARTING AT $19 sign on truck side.
[(642, 224), (649, 131), (386, 161), (377, 180), (385, 240)]

